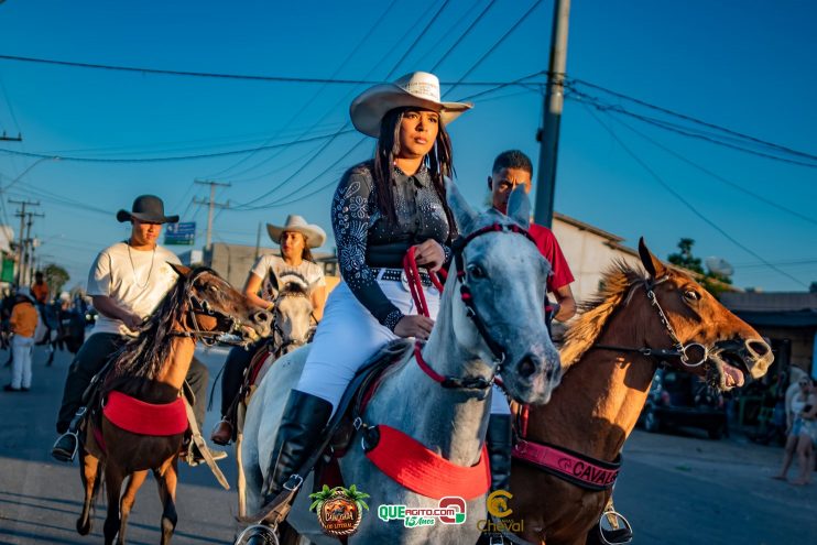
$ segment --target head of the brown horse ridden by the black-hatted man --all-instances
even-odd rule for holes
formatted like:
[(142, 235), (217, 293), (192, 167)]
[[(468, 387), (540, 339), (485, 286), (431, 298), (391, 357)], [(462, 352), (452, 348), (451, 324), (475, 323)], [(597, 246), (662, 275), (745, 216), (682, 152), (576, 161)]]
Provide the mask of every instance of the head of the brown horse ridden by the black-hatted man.
[[(181, 276), (179, 288), (186, 301), (179, 307), (179, 321), (188, 331), (233, 334), (252, 341), (271, 334), (270, 313), (251, 305), (215, 271), (171, 264)], [(194, 324), (195, 318), (195, 324)]]

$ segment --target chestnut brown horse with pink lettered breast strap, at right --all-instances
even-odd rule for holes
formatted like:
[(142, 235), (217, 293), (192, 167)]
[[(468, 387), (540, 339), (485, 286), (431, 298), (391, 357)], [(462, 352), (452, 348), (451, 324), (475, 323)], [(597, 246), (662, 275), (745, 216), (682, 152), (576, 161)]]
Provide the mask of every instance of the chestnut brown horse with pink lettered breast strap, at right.
[[(741, 386), (744, 373), (762, 377), (772, 364), (772, 350), (754, 329), (688, 275), (665, 266), (643, 239), (639, 252), (647, 276), (617, 264), (568, 329), (562, 385), (547, 405), (530, 407), (529, 440), (613, 462), (646, 401), (660, 363), (655, 352), (721, 391)], [(516, 458), (512, 467), (509, 506), (524, 521), (522, 538), (596, 543), (611, 489), (586, 490)]]

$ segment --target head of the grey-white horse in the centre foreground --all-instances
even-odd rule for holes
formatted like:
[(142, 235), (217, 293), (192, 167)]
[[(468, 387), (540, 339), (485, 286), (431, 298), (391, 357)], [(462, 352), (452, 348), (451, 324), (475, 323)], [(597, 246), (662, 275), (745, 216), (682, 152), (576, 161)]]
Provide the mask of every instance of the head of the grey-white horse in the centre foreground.
[(514, 400), (546, 403), (559, 383), (560, 363), (545, 326), (551, 265), (526, 235), (527, 195), (514, 190), (504, 216), (493, 209), (476, 214), (450, 182), (447, 192), (460, 229), (455, 268), (461, 272), (451, 274), (470, 294), (470, 303), (469, 296), (454, 295), (457, 341), (483, 361), (501, 360), (502, 381)]

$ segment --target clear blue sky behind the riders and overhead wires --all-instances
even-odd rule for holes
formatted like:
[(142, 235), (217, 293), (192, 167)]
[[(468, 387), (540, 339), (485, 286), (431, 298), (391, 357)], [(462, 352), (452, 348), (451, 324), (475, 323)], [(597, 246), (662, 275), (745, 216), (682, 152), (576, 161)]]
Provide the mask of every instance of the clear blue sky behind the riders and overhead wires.
[[(438, 63), (489, 1), (450, 0), (423, 33), (440, 2), (7, 0), (0, 3), (0, 55), (370, 80), (383, 80), (390, 74), (389, 79), (394, 79), (434, 67), (443, 81), (451, 83), (470, 72), (535, 3), (495, 1), (471, 33)], [(552, 2), (542, 2), (466, 80), (509, 81), (545, 69), (552, 12)], [(381, 18), (381, 24), (374, 25)], [(567, 72), (651, 103), (815, 154), (815, 21), (817, 7), (809, 1), (574, 1)], [(417, 36), (416, 45), (410, 48)], [(0, 61), (0, 130), (10, 134), (20, 131), (24, 138), (22, 143), (0, 143), (0, 149), (85, 157), (211, 153), (331, 134), (347, 122), (351, 98), (366, 87), (201, 79), (11, 61)], [(443, 89), (448, 99), (486, 89), (450, 88)], [(634, 110), (632, 103), (600, 91), (581, 90)], [(520, 148), (537, 163), (534, 134), (541, 122), (542, 97), (536, 86), (509, 87), (475, 101), (475, 109), (453, 123), (450, 133), (458, 182), (478, 205), (483, 203), (486, 177), (498, 152)], [(675, 249), (679, 238), (693, 238), (699, 257), (717, 255), (734, 265), (739, 286), (798, 291), (817, 281), (817, 168), (728, 150), (632, 118), (597, 116), (717, 229), (663, 188), (576, 100), (565, 103), (556, 210), (619, 235), (630, 246), (643, 235), (662, 257)], [(690, 166), (631, 132), (621, 121), (784, 209)], [(126, 236), (127, 229), (113, 215), (128, 208), (139, 194), (160, 195), (170, 212), (183, 214), (183, 219), (204, 227), (206, 211), (190, 206), (194, 196), (205, 196), (203, 187), (194, 186), (195, 178), (231, 182), (217, 198), (233, 204), (253, 201), (286, 181), (271, 196), (255, 201), (272, 205), (268, 208), (220, 212), (217, 241), (253, 244), (260, 221), (280, 222), (291, 212), (330, 231), (328, 203), (336, 181), (373, 149), (373, 141), (367, 141), (344, 156), (358, 139), (357, 134), (338, 137), (312, 160), (324, 142), (197, 161), (43, 161), (2, 196), (41, 200), (39, 210), (46, 217), (34, 226), (35, 235), (44, 241), (41, 253), (44, 261), (66, 266), (74, 284), (84, 282), (101, 248)], [(33, 161), (0, 153), (0, 187), (7, 187)], [(333, 163), (337, 164), (313, 179)], [(320, 187), (326, 188), (286, 204)], [(4, 206), (0, 218), (9, 217), (17, 229), (14, 207)], [(204, 243), (204, 237), (199, 240)]]

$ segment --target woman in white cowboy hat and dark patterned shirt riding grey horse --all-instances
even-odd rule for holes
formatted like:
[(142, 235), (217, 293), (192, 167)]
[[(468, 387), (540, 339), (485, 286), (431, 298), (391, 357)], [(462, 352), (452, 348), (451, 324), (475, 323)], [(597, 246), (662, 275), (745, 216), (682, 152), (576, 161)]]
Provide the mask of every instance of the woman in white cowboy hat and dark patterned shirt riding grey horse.
[(390, 340), (428, 338), (439, 293), (423, 272), (431, 317), (401, 283), (402, 259), (439, 270), (451, 257), (455, 221), (444, 176), (454, 173), (446, 124), (471, 106), (439, 100), (436, 76), (416, 72), (357, 97), (355, 127), (378, 138), (373, 160), (344, 174), (331, 205), (342, 282), (333, 291), (275, 438), (264, 503), (315, 448), (358, 368)]

